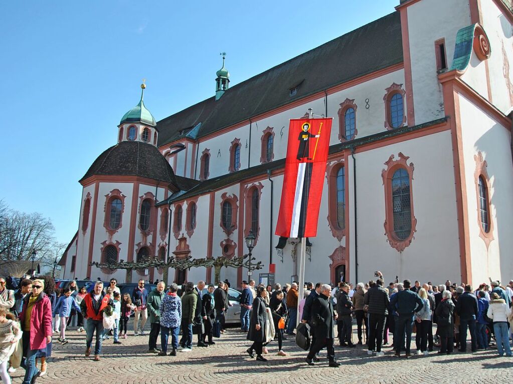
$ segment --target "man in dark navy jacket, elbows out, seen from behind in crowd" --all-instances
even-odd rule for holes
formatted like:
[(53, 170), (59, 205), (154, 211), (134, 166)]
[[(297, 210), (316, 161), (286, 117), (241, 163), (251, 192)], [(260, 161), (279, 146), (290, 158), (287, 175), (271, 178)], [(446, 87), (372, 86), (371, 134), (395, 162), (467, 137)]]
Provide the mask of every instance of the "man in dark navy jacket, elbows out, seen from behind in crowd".
[(416, 292), (410, 291), (411, 282), (409, 280), (403, 282), (403, 287), (404, 290), (397, 292), (390, 298), (390, 307), (398, 313), (393, 343), (396, 350), (395, 356), (401, 356), (401, 347), (404, 345), (404, 334), (406, 333), (406, 358), (409, 358), (411, 356), (413, 317), (424, 307), (424, 303)]

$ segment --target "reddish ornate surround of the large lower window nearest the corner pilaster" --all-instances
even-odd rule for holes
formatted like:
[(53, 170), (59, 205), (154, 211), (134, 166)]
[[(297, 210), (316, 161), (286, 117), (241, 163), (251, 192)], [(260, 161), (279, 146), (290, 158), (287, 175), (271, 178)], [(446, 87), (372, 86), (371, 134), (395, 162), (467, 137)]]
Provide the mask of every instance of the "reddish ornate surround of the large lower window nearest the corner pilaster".
[[(417, 219), (413, 213), (413, 163), (407, 164), (408, 156), (404, 156), (401, 152), (399, 152), (399, 159), (394, 160), (394, 155), (390, 155), (388, 160), (385, 162), (387, 166), (386, 169), (383, 169), (381, 172), (381, 177), (383, 178), (383, 185), (385, 189), (385, 223), (383, 226), (385, 227), (385, 236), (387, 237), (387, 241), (390, 246), (394, 249), (397, 249), (399, 252), (404, 251), (404, 249), (411, 244), (411, 240), (414, 238), (414, 234), (417, 231)], [(403, 168), (406, 170), (410, 180), (410, 208), (411, 208), (411, 231), (409, 236), (404, 239), (398, 239), (394, 230), (393, 230), (393, 206), (392, 206), (392, 177), (394, 172), (398, 168)]]

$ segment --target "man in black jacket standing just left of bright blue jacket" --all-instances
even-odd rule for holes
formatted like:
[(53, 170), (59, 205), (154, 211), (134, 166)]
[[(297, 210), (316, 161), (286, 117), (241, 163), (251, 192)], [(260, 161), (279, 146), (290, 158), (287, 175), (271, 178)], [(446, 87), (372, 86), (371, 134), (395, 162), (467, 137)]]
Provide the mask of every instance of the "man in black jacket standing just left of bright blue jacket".
[(467, 327), (470, 329), (472, 352), (477, 350), (476, 318), (478, 316), (478, 300), (472, 294), (472, 287), (465, 285), (465, 292), (458, 297), (456, 312), (460, 316), (460, 352), (467, 348)]

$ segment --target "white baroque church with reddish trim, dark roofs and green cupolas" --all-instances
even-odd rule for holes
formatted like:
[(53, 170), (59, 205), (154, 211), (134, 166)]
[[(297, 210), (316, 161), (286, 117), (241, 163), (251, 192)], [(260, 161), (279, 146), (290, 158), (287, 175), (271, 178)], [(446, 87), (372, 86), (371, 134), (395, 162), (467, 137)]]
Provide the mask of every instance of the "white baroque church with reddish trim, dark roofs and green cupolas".
[[(253, 278), (297, 280), (298, 239), (275, 236), (291, 118), (333, 118), (305, 281), (477, 285), (513, 271), (513, 13), (508, 0), (401, 0), (372, 23), (160, 121), (143, 98), (91, 165), (65, 279), (91, 262), (248, 252)], [(144, 90), (143, 90), (144, 92)], [(162, 279), (162, 270), (131, 280)], [(243, 268), (221, 279), (240, 286)], [(213, 282), (209, 268), (169, 282)], [(267, 282), (267, 280), (263, 280)], [(388, 281), (387, 281), (388, 283)]]

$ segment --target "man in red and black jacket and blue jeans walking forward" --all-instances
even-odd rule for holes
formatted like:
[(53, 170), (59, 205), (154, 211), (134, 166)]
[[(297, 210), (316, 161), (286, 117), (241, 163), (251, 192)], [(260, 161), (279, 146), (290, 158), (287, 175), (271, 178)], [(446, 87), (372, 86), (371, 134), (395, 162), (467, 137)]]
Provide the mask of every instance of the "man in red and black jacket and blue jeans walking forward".
[(88, 293), (84, 297), (84, 300), (82, 300), (82, 303), (80, 303), (82, 316), (87, 319), (86, 357), (91, 354), (93, 334), (96, 330), (94, 361), (100, 361), (100, 353), (102, 352), (103, 310), (108, 305), (112, 305), (112, 299), (110, 295), (103, 292), (103, 283), (101, 281), (96, 282), (94, 290)]

